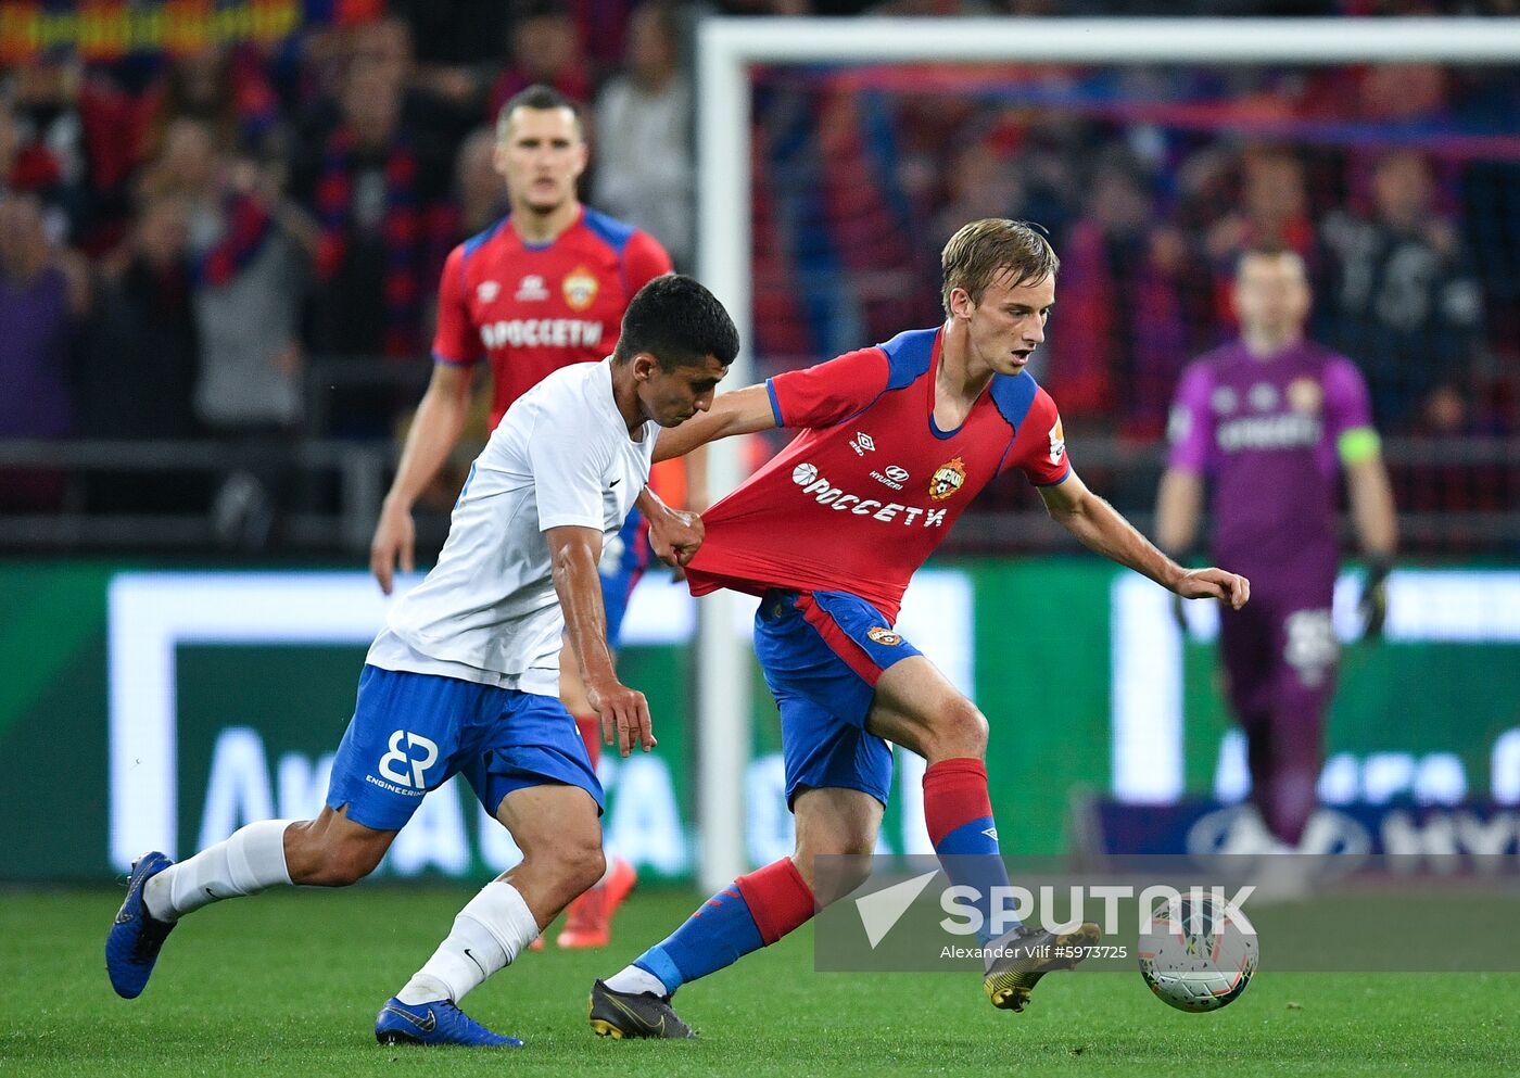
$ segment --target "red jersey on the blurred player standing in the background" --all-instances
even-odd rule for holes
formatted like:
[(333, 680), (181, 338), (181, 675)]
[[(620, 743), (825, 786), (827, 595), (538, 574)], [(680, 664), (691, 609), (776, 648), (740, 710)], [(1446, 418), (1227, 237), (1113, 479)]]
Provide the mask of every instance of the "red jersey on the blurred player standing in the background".
[(526, 243), (503, 217), (448, 254), (438, 283), (433, 359), (491, 359), (494, 427), (546, 374), (611, 354), (634, 293), (670, 272), (649, 236), (582, 207), (549, 243)]

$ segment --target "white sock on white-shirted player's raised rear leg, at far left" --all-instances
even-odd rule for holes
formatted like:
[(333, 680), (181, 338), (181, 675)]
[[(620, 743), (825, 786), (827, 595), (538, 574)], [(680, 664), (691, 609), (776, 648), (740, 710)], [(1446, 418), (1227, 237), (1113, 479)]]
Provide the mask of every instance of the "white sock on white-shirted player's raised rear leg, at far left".
[(261, 820), (210, 845), (188, 861), (170, 865), (147, 880), (143, 902), (161, 921), (176, 921), (222, 899), (290, 886), (284, 861), (284, 832), (293, 820)]

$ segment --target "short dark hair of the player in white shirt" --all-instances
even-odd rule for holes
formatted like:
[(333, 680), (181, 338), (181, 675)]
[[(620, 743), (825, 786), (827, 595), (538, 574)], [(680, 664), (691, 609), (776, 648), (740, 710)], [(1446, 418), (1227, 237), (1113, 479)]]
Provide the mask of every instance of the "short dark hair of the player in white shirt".
[(701, 281), (681, 274), (657, 277), (634, 295), (613, 350), (614, 363), (648, 353), (661, 371), (696, 366), (708, 356), (724, 366), (739, 354), (734, 319)]

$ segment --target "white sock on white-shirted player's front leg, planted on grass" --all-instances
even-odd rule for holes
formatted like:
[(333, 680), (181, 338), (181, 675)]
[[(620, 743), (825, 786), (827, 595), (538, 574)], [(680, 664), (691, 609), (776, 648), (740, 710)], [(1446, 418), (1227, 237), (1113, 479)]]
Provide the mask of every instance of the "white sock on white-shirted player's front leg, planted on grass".
[(515, 886), (491, 880), (454, 917), (448, 938), (397, 993), (407, 1007), (438, 999), (459, 1002), (497, 970), (511, 965), (538, 938), (538, 921)]

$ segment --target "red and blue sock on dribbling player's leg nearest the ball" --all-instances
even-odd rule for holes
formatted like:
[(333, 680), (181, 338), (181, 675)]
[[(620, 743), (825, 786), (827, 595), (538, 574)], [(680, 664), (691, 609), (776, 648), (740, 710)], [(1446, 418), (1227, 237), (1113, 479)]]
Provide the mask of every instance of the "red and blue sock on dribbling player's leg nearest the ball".
[(924, 820), (945, 876), (976, 891), (971, 905), (982, 914), (977, 938), (985, 944), (1017, 927), (1015, 920), (994, 926), (991, 915), (993, 888), (1008, 886), (1008, 870), (997, 848), (986, 766), (970, 757), (932, 763), (924, 771)]

